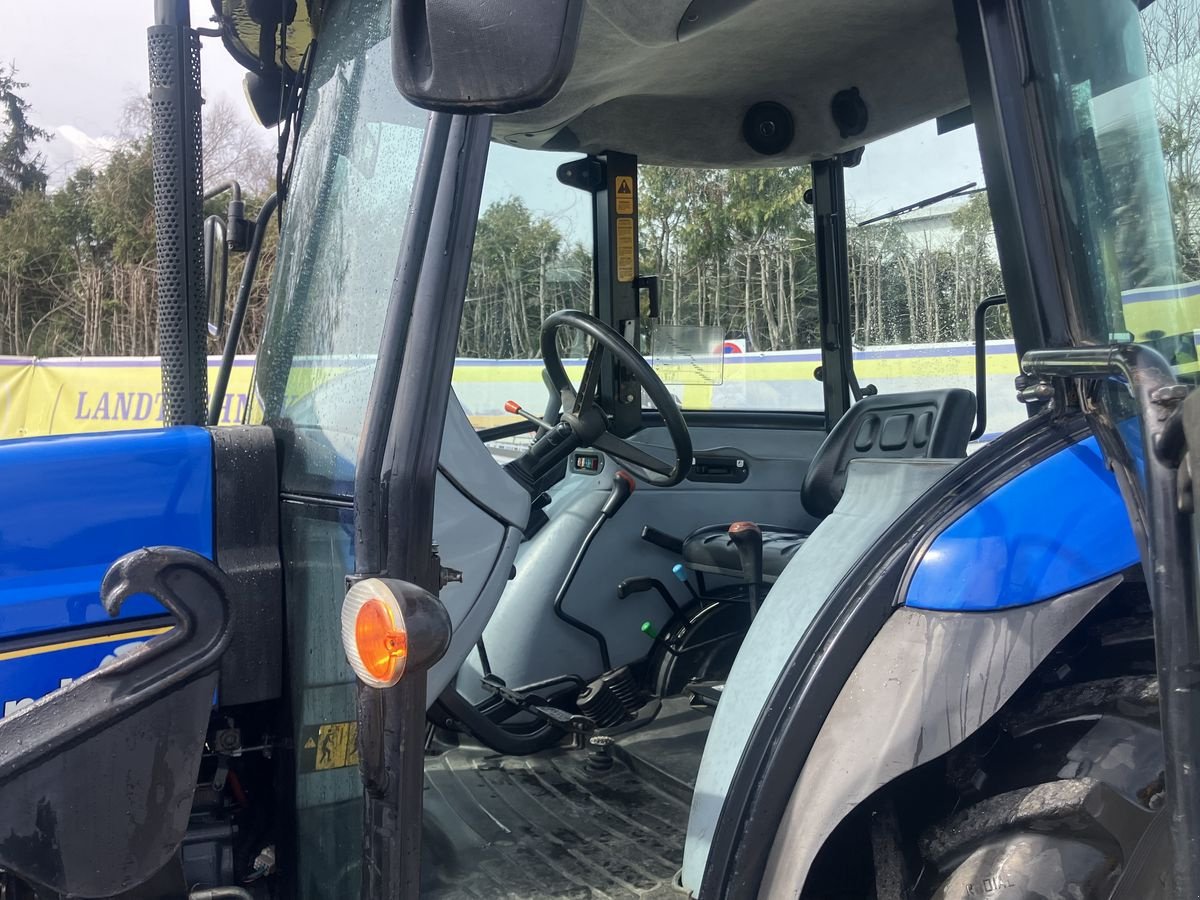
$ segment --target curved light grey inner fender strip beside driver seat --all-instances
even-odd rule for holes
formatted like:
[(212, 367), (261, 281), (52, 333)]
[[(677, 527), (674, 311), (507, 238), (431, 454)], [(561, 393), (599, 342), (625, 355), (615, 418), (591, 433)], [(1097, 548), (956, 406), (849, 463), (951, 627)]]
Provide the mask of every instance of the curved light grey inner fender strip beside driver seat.
[[(746, 632), (696, 778), (684, 886), (698, 890), (716, 821), (750, 732), (817, 611), (884, 530), (958, 460), (854, 460), (846, 492), (779, 576)], [(816, 772), (823, 772), (816, 768)]]

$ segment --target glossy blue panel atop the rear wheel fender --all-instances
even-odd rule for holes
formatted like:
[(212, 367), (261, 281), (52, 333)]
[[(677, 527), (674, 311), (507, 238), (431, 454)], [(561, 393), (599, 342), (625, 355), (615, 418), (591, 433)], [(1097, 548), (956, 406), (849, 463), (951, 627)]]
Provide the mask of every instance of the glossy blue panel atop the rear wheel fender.
[(1140, 558), (1129, 514), (1096, 438), (1060, 450), (952, 522), (917, 564), (905, 604), (923, 610), (1026, 606)]

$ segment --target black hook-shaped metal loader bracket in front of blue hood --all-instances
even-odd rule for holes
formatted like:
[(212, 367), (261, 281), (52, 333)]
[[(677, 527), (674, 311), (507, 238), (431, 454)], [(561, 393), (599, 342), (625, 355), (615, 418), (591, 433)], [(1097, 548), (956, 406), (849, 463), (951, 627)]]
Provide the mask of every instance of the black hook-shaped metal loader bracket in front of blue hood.
[(0, 720), (0, 869), (55, 896), (110, 896), (178, 852), (232, 590), (216, 565), (179, 547), (112, 565), (100, 592), (110, 616), (151, 594), (175, 628)]

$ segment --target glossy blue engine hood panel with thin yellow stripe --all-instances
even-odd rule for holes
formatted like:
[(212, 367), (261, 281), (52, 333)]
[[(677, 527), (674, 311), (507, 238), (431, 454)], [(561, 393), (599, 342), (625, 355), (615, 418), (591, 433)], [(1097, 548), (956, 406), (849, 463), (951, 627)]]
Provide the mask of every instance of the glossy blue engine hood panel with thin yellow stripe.
[(0, 702), (42, 696), (148, 640), (139, 620), (166, 614), (150, 596), (126, 601), (127, 629), (96, 629), (113, 622), (100, 602), (108, 566), (154, 545), (212, 557), (204, 428), (0, 443)]

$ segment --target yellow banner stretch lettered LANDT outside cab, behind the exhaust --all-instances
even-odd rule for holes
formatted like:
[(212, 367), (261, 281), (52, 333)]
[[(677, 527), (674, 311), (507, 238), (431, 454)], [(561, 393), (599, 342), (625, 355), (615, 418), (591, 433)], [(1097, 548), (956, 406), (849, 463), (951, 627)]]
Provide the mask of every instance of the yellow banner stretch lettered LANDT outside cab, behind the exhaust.
[[(209, 359), (210, 384), (218, 365)], [(251, 356), (234, 362), (222, 425), (242, 420), (252, 371)], [(161, 426), (157, 358), (0, 358), (0, 439)]]

